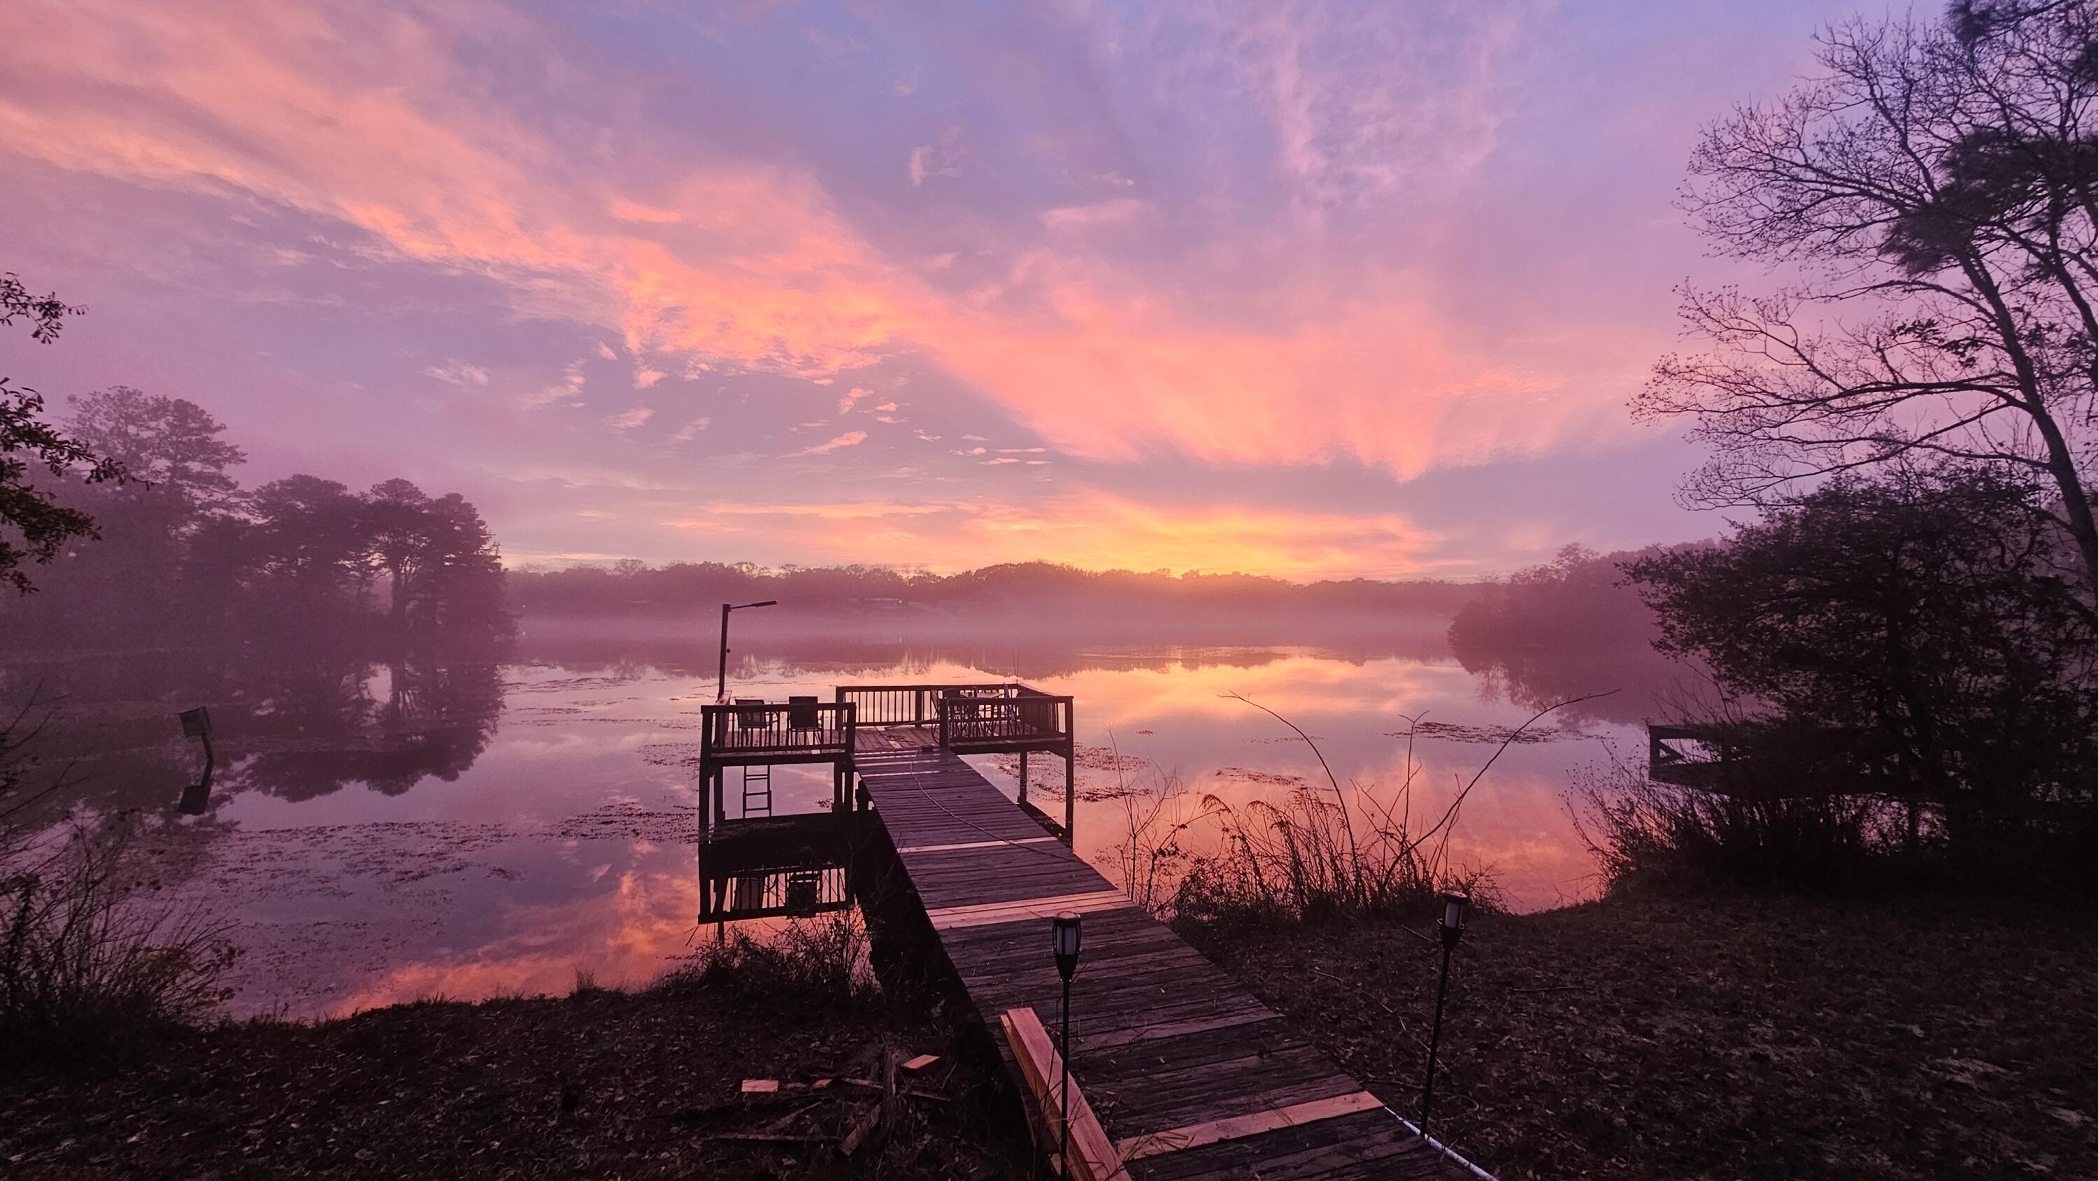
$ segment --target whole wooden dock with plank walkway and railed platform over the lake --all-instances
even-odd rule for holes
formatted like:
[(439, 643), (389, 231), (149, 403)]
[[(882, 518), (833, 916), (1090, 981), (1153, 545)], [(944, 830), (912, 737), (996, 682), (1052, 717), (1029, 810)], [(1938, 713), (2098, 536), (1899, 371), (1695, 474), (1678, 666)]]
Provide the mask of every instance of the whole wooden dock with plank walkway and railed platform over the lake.
[[(1020, 799), (1007, 799), (961, 757), (994, 751), (1020, 753)], [(1026, 799), (1030, 753), (1064, 761), (1062, 824)], [(1097, 1116), (1099, 1126), (1085, 1131), (1120, 1164), (1080, 1168), (1080, 1177), (1492, 1181), (1422, 1137), (1070, 850), (1072, 699), (1020, 684), (848, 686), (827, 705), (703, 707), (703, 879), (707, 850), (751, 822), (726, 816), (726, 770), (787, 761), (835, 768), (833, 812), (873, 810), (988, 1032), (1013, 1015), (1036, 1036), (1034, 1017), (1057, 1026), (1062, 980), (1049, 919), (1085, 915), (1072, 984), (1072, 1091)], [(736, 904), (724, 885), (728, 904), (709, 921), (747, 908), (770, 912), (772, 894), (755, 871), (736, 862), (715, 877), (751, 898)], [(801, 902), (814, 894), (804, 889)], [(994, 1040), (1030, 1093), (1028, 1070), (1018, 1070), (1005, 1038)], [(1039, 1076), (1043, 1059), (1030, 1055), (1026, 1066)]]

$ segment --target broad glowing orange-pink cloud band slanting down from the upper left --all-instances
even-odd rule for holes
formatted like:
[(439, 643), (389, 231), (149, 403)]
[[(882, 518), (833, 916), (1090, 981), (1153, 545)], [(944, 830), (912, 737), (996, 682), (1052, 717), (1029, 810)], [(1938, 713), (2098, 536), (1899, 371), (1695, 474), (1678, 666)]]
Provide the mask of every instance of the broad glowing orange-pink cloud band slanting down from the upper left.
[[(1305, 269), (1276, 277), (1269, 315), (1223, 319), (1089, 241), (1137, 218), (1135, 199), (1049, 212), (1053, 248), (959, 296), (871, 245), (801, 172), (707, 159), (629, 191), (453, 59), (472, 31), (558, 61), (552, 34), (495, 6), (438, 13), (17, 0), (0, 8), (0, 151), (336, 218), (397, 256), (501, 279), (524, 315), (617, 329), (636, 355), (831, 380), (917, 352), (1074, 457), (1357, 457), (1410, 476), (1615, 415), (1615, 386), (1567, 390), (1467, 344), (1420, 277)], [(1278, 101), (1307, 120), (1324, 103)], [(1376, 155), (1309, 130), (1286, 143), (1322, 187), (1366, 176), (1339, 159)]]

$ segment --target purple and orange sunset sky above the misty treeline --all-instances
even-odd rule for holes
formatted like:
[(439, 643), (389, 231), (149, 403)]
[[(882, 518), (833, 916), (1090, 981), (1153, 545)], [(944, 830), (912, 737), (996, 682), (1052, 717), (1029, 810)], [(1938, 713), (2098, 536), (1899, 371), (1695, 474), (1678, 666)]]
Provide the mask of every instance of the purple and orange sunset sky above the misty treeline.
[(1855, 2), (8, 0), (6, 373), (510, 564), (1479, 577), (1708, 537), (1626, 399)]

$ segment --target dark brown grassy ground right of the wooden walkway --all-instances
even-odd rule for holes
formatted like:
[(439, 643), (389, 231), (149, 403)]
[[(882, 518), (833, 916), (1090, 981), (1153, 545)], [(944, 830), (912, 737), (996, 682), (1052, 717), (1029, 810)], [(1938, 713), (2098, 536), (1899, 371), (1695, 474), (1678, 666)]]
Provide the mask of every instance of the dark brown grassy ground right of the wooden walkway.
[[(2098, 1177), (2088, 919), (1620, 898), (1483, 915), (1435, 1135), (1529, 1177)], [(1198, 944), (1401, 1112), (1439, 950), (1393, 923)]]

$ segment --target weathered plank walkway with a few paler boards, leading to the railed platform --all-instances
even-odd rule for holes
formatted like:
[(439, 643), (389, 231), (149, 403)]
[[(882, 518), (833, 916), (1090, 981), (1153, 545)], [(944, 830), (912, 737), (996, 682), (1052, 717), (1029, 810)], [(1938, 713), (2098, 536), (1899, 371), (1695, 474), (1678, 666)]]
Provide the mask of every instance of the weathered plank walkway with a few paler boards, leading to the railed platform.
[[(1047, 919), (1085, 912), (1072, 1082), (1135, 1181), (1248, 1168), (1267, 1181), (1483, 1177), (1416, 1135), (938, 743), (927, 728), (860, 730), (854, 766), (992, 1030), (999, 1013), (1020, 1007), (1055, 1026), (1062, 984)], [(1248, 1126), (1267, 1131), (1242, 1135)]]

